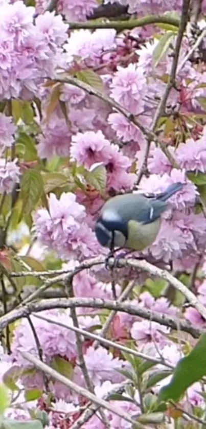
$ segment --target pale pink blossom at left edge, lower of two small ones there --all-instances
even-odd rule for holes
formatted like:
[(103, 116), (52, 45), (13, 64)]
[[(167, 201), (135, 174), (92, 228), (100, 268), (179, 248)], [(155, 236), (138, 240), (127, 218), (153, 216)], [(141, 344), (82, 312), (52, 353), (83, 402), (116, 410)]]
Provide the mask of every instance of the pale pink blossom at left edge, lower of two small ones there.
[(19, 167), (17, 166), (17, 160), (6, 161), (0, 159), (0, 193), (6, 192), (10, 194), (16, 183), (19, 183)]

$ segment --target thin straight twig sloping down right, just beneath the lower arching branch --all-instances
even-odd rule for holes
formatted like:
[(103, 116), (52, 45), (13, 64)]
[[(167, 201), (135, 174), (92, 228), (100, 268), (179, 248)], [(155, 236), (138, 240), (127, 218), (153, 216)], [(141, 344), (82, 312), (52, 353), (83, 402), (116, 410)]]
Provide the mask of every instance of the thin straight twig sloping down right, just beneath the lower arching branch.
[(58, 322), (57, 320), (52, 320), (51, 318), (44, 317), (44, 316), (39, 315), (39, 314), (32, 313), (32, 315), (33, 315), (33, 317), (36, 317), (37, 319), (44, 320), (45, 322), (54, 323), (55, 325), (61, 326), (62, 328), (66, 328), (66, 329), (70, 329), (71, 331), (78, 332), (79, 334), (83, 335), (84, 337), (91, 338), (91, 340), (95, 340), (98, 343), (103, 344), (105, 346), (114, 347), (118, 350), (121, 350), (125, 353), (129, 353), (133, 356), (141, 357), (142, 359), (148, 360), (149, 362), (154, 362), (157, 365), (163, 365), (163, 366), (170, 368), (170, 369), (174, 368), (173, 365), (167, 364), (165, 362), (165, 360), (157, 359), (156, 357), (149, 356), (148, 354), (141, 353), (141, 352), (138, 352), (136, 350), (130, 349), (129, 347), (122, 346), (121, 344), (116, 343), (116, 342), (111, 341), (111, 340), (107, 340), (106, 338), (103, 338), (100, 335), (95, 334), (94, 332), (88, 332), (88, 331), (85, 331), (84, 329), (76, 328), (76, 327), (71, 326), (71, 325), (65, 325), (62, 322)]

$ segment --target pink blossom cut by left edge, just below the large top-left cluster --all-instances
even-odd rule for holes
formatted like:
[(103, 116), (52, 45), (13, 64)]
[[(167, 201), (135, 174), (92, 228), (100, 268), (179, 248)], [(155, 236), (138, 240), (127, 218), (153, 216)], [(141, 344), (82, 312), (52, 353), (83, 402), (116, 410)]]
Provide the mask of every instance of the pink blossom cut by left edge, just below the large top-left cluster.
[(11, 116), (0, 113), (0, 150), (11, 147), (14, 143), (14, 134), (17, 130)]

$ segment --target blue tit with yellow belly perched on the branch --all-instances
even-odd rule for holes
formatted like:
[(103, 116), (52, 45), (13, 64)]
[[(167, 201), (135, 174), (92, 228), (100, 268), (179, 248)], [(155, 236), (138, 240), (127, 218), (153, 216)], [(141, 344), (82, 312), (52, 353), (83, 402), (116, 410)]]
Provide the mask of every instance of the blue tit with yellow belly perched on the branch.
[(99, 243), (109, 247), (123, 247), (143, 251), (156, 239), (161, 227), (161, 214), (167, 209), (167, 200), (184, 185), (175, 183), (157, 196), (144, 194), (117, 195), (105, 202), (96, 223)]

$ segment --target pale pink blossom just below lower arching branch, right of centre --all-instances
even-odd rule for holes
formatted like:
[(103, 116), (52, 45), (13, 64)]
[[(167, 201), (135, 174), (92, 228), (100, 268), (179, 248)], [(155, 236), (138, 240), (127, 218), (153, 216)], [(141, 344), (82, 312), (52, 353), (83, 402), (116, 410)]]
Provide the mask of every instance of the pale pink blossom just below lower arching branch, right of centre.
[[(164, 335), (162, 335), (161, 332)], [(139, 346), (155, 342), (156, 344), (159, 344), (159, 346), (163, 347), (163, 345), (167, 344), (165, 335), (169, 332), (169, 328), (159, 325), (159, 323), (147, 320), (134, 322), (131, 328), (131, 336), (136, 340)]]

